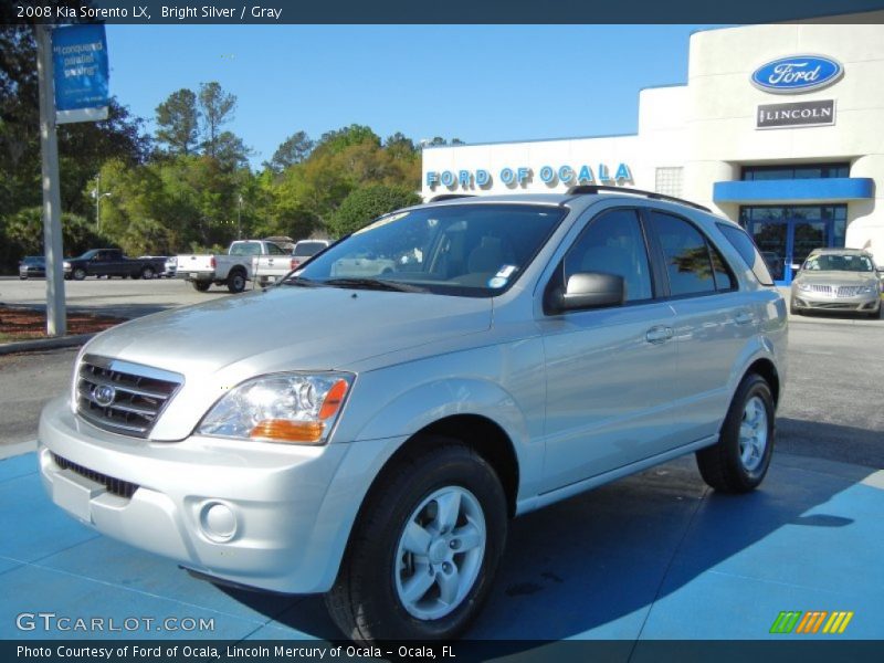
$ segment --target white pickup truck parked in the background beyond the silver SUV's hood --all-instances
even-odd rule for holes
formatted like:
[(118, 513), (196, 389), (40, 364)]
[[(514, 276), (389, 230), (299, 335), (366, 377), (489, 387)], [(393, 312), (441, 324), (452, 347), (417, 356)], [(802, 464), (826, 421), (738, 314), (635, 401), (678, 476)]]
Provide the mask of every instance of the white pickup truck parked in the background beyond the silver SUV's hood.
[(286, 257), (273, 242), (239, 240), (230, 245), (227, 255), (178, 255), (176, 276), (189, 281), (201, 293), (213, 283), (227, 285), (231, 293), (241, 293), (245, 282), (252, 278), (252, 259), (259, 255)]

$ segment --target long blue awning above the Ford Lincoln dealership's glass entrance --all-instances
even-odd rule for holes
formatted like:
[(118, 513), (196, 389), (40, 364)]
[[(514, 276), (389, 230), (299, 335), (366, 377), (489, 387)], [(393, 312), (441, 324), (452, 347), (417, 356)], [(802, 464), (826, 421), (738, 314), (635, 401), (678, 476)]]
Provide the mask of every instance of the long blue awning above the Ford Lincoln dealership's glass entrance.
[(713, 185), (715, 202), (843, 202), (874, 198), (875, 181), (867, 177), (725, 181)]

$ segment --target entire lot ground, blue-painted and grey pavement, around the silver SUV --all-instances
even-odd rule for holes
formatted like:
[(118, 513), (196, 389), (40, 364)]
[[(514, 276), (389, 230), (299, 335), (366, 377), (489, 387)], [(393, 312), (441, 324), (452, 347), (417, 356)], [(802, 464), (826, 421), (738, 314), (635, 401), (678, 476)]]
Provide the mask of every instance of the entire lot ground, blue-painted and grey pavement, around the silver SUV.
[[(200, 294), (177, 281), (66, 286), (71, 306), (117, 315), (227, 294)], [(43, 288), (42, 281), (2, 280), (0, 302), (38, 303)], [(711, 492), (686, 457), (515, 520), (492, 599), (469, 636), (783, 638), (770, 629), (785, 610), (852, 611), (838, 638), (884, 636), (882, 325), (793, 322), (777, 453), (755, 494)], [(40, 610), (213, 620), (212, 630), (188, 638), (337, 636), (317, 597), (194, 580), (49, 502), (29, 449), (40, 408), (69, 388), (74, 356), (66, 349), (0, 357), (0, 449), (17, 454), (0, 462), (0, 513), (10, 532), (0, 540), (0, 636), (72, 635), (17, 628), (18, 614)], [(140, 628), (119, 635), (180, 633)]]

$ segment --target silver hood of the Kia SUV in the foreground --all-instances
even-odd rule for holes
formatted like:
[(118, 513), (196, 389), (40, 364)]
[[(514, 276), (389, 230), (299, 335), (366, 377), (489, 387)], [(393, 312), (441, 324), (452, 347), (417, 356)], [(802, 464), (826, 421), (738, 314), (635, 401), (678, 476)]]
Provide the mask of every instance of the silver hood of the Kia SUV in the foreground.
[(181, 440), (227, 389), (287, 370), (356, 361), (486, 330), (492, 301), (336, 287), (274, 287), (118, 325), (84, 352), (180, 373), (183, 387), (151, 431)]

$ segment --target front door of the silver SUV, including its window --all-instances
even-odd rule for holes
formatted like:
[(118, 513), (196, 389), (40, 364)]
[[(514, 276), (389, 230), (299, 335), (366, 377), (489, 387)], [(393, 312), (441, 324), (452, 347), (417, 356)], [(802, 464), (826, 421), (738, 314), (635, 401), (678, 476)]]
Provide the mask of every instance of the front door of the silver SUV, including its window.
[(669, 385), (676, 378), (675, 315), (657, 297), (635, 208), (592, 218), (549, 287), (580, 272), (623, 276), (624, 304), (545, 315), (545, 490), (572, 484), (671, 446)]

